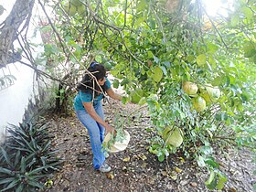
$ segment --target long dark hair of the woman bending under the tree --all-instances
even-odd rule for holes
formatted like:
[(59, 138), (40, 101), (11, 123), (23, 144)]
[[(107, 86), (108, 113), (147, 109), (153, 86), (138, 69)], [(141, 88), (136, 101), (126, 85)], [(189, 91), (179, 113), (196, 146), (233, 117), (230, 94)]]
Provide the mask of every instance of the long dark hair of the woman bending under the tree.
[[(100, 63), (97, 63), (96, 61), (91, 62), (90, 67), (88, 68), (88, 71), (91, 72), (91, 74), (96, 78), (96, 80), (102, 80), (106, 76), (106, 69), (103, 65)], [(77, 91), (83, 91), (83, 92), (90, 92), (93, 94), (93, 81), (94, 81), (94, 95), (99, 95), (102, 89), (102, 91), (106, 91), (106, 86), (105, 84), (101, 86), (101, 89), (96, 82), (96, 80), (91, 77), (91, 74), (88, 72), (85, 72), (82, 80), (80, 81), (79, 85), (77, 86)]]

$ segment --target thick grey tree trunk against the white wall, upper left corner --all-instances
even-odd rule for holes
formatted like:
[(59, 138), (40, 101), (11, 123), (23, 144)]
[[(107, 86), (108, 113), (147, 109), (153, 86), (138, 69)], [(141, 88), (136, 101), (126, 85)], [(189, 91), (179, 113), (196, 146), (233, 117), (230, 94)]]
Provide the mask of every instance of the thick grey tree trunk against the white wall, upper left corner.
[(20, 59), (20, 55), (13, 50), (13, 42), (27, 27), (34, 4), (35, 0), (16, 0), (10, 15), (0, 26), (0, 68)]

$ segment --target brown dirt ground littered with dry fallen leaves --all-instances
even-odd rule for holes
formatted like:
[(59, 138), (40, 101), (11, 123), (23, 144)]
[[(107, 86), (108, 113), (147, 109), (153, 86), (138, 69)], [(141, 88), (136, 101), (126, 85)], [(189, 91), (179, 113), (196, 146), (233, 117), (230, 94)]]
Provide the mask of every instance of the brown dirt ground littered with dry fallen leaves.
[[(131, 134), (131, 141), (125, 151), (111, 154), (107, 159), (112, 172), (102, 174), (92, 167), (92, 154), (89, 135), (86, 129), (73, 116), (48, 117), (52, 143), (59, 150), (59, 156), (65, 159), (63, 168), (50, 176), (53, 186), (48, 192), (205, 192), (204, 182), (207, 172), (199, 168), (195, 161), (183, 160), (182, 155), (170, 155), (160, 163), (157, 157), (148, 152), (149, 139), (154, 134), (147, 132), (151, 128), (145, 108), (139, 109), (134, 104), (123, 105), (119, 101), (105, 103), (106, 120), (112, 123), (116, 112), (127, 112), (132, 122), (125, 129)], [(135, 112), (136, 111), (136, 112)], [(220, 170), (229, 177), (222, 191), (252, 192), (256, 177), (252, 172), (255, 165), (247, 150), (227, 149), (219, 154)], [(182, 158), (181, 158), (182, 157)]]

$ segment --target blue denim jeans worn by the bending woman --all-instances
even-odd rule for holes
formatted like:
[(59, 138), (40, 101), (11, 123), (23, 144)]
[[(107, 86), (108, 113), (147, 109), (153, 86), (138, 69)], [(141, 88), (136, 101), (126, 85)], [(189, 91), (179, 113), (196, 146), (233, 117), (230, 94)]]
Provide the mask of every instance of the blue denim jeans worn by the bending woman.
[[(99, 116), (103, 117), (102, 105), (97, 104), (94, 107)], [(105, 161), (105, 155), (102, 151), (102, 141), (104, 138), (104, 127), (97, 123), (91, 115), (85, 110), (76, 111), (80, 122), (87, 128), (90, 135), (91, 151), (93, 154), (93, 167), (99, 169)]]

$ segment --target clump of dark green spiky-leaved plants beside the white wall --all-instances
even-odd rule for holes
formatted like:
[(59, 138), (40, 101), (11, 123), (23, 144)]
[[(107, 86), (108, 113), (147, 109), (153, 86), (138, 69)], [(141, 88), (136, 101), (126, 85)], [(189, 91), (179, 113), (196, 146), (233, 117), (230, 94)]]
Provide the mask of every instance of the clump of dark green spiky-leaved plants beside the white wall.
[(47, 128), (46, 123), (33, 121), (9, 125), (0, 150), (1, 192), (42, 189), (42, 179), (59, 168), (62, 161), (50, 149)]

